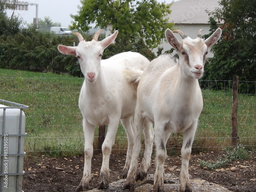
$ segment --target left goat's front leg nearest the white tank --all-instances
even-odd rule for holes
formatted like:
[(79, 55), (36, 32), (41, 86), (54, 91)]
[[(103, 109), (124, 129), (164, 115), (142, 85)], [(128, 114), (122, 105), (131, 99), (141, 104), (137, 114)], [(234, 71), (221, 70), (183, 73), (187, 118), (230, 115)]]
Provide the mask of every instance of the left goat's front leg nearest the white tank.
[(89, 182), (92, 180), (91, 166), (93, 156), (93, 139), (95, 126), (90, 124), (85, 118), (83, 119), (83, 134), (84, 134), (84, 168), (83, 176), (76, 191), (84, 191), (89, 189)]

